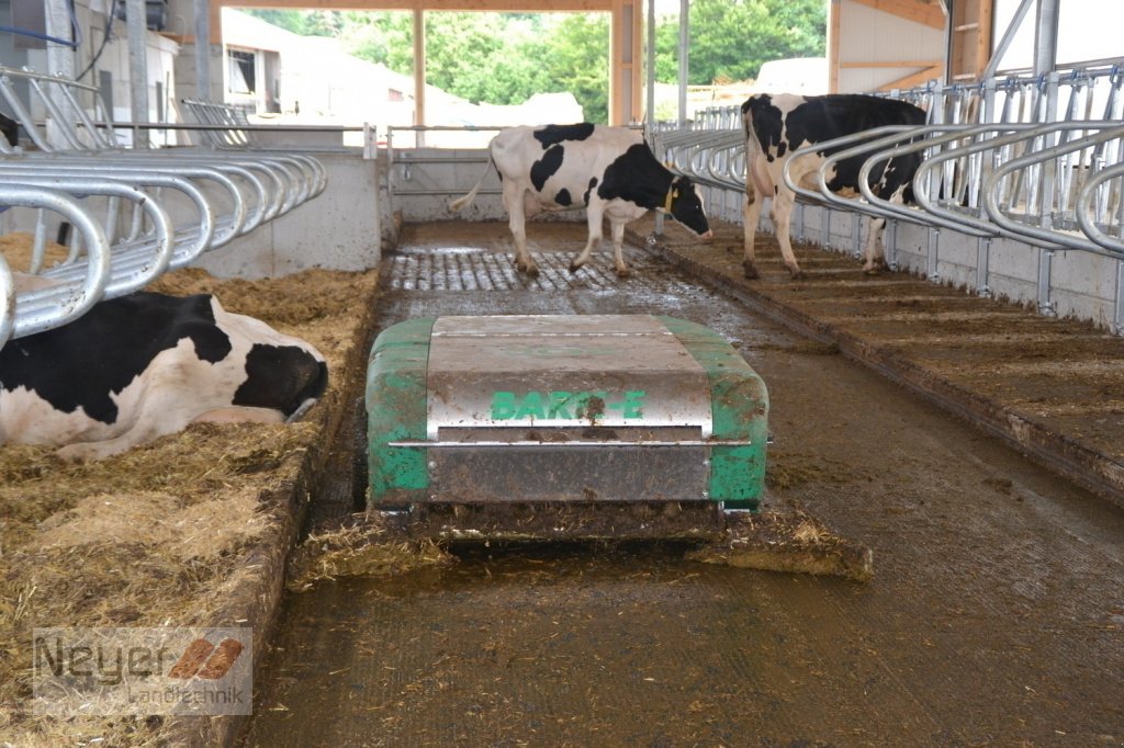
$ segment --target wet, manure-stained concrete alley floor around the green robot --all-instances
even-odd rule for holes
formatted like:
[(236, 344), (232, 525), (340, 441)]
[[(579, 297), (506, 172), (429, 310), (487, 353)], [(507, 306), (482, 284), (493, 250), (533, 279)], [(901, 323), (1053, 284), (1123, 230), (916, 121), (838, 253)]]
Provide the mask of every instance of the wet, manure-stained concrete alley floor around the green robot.
[[(510, 271), (504, 226), (407, 227), (380, 326), (658, 312), (714, 328), (770, 387), (767, 503), (869, 545), (873, 581), (690, 564), (658, 544), (482, 548), (453, 568), (321, 583), (285, 602), (245, 745), (1124, 742), (1124, 511), (1104, 493), (660, 253), (629, 249), (629, 280), (606, 255), (571, 276), (582, 229), (531, 229), (537, 281)], [(708, 252), (722, 272), (728, 253)], [(907, 279), (876, 282), (918, 295), (894, 280)]]

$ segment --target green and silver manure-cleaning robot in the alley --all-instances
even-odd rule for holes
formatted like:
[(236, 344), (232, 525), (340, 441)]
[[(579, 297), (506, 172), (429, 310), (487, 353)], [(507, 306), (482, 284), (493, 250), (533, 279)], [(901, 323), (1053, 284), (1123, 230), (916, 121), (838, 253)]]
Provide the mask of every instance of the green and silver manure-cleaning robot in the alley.
[(760, 550), (788, 522), (758, 513), (764, 382), (717, 332), (674, 317), (400, 322), (372, 347), (366, 409), (368, 509), (405, 514), (415, 536)]

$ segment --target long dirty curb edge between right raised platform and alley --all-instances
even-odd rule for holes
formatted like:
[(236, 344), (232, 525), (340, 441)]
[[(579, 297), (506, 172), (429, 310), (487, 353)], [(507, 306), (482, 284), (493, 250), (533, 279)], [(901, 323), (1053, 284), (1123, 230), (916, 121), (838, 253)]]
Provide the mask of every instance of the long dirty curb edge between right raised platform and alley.
[(886, 350), (851, 332), (817, 320), (778, 301), (760, 288), (723, 275), (707, 265), (626, 229), (626, 239), (647, 246), (672, 264), (699, 276), (711, 286), (734, 297), (749, 308), (821, 343), (833, 344), (840, 353), (890, 381), (921, 395), (973, 426), (997, 436), (1043, 467), (1124, 508), (1124, 465), (1064, 434), (1058, 434), (992, 399), (950, 382), (904, 356)]

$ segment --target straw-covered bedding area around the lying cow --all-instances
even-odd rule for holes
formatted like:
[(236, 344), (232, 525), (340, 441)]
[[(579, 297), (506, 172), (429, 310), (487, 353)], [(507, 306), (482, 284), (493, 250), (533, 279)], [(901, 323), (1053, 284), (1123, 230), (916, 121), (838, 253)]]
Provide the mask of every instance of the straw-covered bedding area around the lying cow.
[[(29, 243), (2, 237), (0, 252), (17, 258)], [(148, 286), (214, 293), (227, 310), (314, 345), (330, 375), (303, 420), (194, 423), (87, 463), (52, 447), (0, 446), (0, 736), (18, 746), (145, 746), (184, 733), (160, 718), (30, 713), (36, 627), (250, 626), (264, 645), (283, 553), (312, 487), (351, 481), (350, 451), (333, 445), (359, 396), (375, 286), (373, 272), (319, 270), (253, 282), (183, 270)], [(205, 722), (190, 729), (211, 729)]]

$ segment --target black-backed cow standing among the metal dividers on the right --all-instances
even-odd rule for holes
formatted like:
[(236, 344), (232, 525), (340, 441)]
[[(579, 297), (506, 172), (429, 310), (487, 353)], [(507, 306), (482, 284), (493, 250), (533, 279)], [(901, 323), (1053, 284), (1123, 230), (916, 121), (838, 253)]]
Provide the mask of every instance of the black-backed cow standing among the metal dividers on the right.
[[(742, 104), (742, 122), (745, 127), (745, 277), (759, 277), (753, 264), (753, 240), (761, 203), (772, 198), (772, 219), (777, 228), (785, 265), (792, 277), (804, 274), (792, 254), (789, 240), (789, 221), (796, 194), (785, 184), (785, 164), (792, 152), (832, 138), (862, 133), (885, 125), (925, 124), (925, 111), (905, 101), (880, 99), (861, 94), (835, 93), (823, 97), (801, 97), (790, 93), (760, 93)], [(851, 147), (856, 144), (851, 144)], [(843, 148), (826, 148), (792, 163), (789, 174), (797, 184), (815, 186), (816, 174), (823, 165), (823, 156), (830, 156)], [(865, 155), (844, 158), (835, 165), (835, 173), (827, 181), (833, 192), (858, 191), (859, 170)], [(870, 186), (876, 195), (885, 200), (908, 202), (913, 200), (909, 184), (913, 182), (919, 154), (899, 156), (882, 163), (870, 173)], [(881, 218), (871, 219), (863, 250), (863, 270), (876, 273), (885, 265), (880, 235), (886, 226)]]

